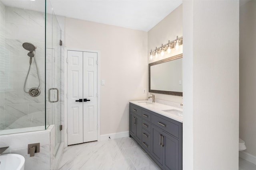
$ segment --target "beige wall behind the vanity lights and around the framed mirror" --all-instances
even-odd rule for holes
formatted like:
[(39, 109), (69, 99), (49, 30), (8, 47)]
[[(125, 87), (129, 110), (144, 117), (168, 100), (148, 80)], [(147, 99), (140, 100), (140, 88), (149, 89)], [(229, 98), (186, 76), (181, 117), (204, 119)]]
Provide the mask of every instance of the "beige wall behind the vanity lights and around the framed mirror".
[[(172, 52), (170, 54), (166, 54), (163, 57), (158, 57), (158, 59), (149, 61), (150, 49), (154, 51), (156, 47), (160, 47), (162, 44), (168, 43), (168, 40), (175, 40), (177, 35), (179, 37), (182, 36), (182, 4), (178, 6), (178, 8), (176, 8), (174, 11), (172, 11), (168, 16), (166, 16), (162, 21), (160, 21), (156, 26), (150, 29), (150, 31), (148, 31), (148, 63), (159, 61), (161, 59), (165, 59), (182, 53), (181, 46), (178, 51), (172, 49)], [(149, 93), (148, 96), (150, 96)], [(155, 98), (177, 103), (182, 102), (182, 97), (180, 96), (155, 94)]]

